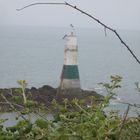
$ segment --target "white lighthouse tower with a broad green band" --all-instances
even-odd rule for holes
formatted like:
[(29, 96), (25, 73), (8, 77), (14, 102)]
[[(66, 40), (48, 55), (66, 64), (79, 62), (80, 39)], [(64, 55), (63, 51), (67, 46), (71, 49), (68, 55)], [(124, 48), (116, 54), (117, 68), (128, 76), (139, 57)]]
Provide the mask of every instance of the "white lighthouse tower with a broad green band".
[(79, 89), (78, 45), (74, 32), (63, 37), (65, 39), (64, 65), (61, 73), (60, 89)]

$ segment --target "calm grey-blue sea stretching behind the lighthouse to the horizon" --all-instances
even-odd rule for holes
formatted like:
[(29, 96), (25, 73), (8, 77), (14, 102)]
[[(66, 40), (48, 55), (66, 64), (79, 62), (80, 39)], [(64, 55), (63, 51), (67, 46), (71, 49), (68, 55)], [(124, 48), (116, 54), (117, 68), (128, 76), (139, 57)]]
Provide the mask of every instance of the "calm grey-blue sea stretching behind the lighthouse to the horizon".
[[(116, 36), (103, 29), (76, 28), (81, 87), (106, 94), (98, 83), (109, 82), (111, 75), (123, 77), (116, 91), (119, 101), (140, 104), (134, 82), (140, 82), (140, 65)], [(17, 87), (25, 79), (28, 87), (59, 86), (63, 66), (63, 36), (70, 28), (0, 27), (0, 88)], [(140, 31), (118, 30), (123, 40), (140, 59)], [(125, 109), (115, 101), (112, 107)], [(133, 109), (133, 111), (135, 108)]]

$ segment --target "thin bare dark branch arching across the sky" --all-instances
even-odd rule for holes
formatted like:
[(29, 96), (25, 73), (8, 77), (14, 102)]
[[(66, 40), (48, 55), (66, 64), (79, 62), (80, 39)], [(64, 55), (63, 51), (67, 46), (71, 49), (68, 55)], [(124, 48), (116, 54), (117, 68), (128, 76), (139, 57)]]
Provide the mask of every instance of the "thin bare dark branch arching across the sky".
[(101, 26), (104, 27), (105, 35), (106, 35), (106, 29), (112, 31), (112, 32), (117, 36), (117, 38), (120, 40), (120, 42), (127, 48), (127, 50), (130, 52), (130, 54), (133, 56), (133, 58), (137, 61), (137, 63), (140, 64), (140, 60), (139, 60), (139, 59), (137, 58), (137, 56), (133, 53), (133, 51), (130, 49), (130, 47), (123, 41), (123, 39), (121, 38), (121, 36), (118, 34), (118, 32), (117, 32), (115, 29), (113, 29), (113, 28), (107, 26), (106, 24), (104, 24), (103, 22), (101, 22), (99, 19), (97, 19), (97, 18), (95, 18), (94, 16), (88, 14), (87, 12), (85, 12), (85, 11), (83, 11), (83, 10), (77, 8), (75, 5), (71, 5), (71, 4), (67, 3), (67, 2), (64, 2), (64, 3), (32, 3), (32, 4), (30, 4), (30, 5), (27, 5), (27, 6), (23, 7), (23, 8), (21, 8), (21, 9), (17, 9), (17, 11), (23, 10), (23, 9), (28, 8), (28, 7), (31, 7), (31, 6), (43, 5), (43, 4), (65, 5), (65, 6), (71, 7), (71, 8), (73, 8), (73, 9), (75, 9), (75, 10), (81, 12), (82, 14), (84, 14), (84, 15), (90, 17), (91, 19), (93, 19), (93, 20), (96, 21), (98, 24), (100, 24)]

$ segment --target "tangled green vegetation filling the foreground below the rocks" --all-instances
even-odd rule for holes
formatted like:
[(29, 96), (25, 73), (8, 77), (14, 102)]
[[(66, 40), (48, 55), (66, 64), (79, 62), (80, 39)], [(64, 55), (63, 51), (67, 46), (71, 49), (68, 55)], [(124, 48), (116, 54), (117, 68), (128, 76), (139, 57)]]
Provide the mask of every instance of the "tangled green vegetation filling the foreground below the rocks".
[[(31, 121), (30, 114), (36, 111), (36, 103), (25, 96), (26, 81), (19, 81), (24, 106), (18, 114), (23, 120), (7, 128), (3, 127), (6, 120), (0, 120), (0, 140), (140, 140), (140, 116), (127, 117), (129, 104), (123, 118), (115, 111), (104, 112), (115, 95), (115, 89), (121, 87), (121, 80), (116, 75), (111, 76), (110, 83), (100, 83), (105, 87), (107, 95), (99, 104), (94, 103), (95, 97), (91, 97), (88, 105), (78, 99), (64, 99), (61, 104), (53, 100), (54, 118), (46, 120), (40, 115), (40, 119), (35, 122)], [(139, 84), (136, 85), (139, 89)], [(17, 97), (16, 101), (18, 103)], [(39, 110), (46, 113), (42, 106)]]

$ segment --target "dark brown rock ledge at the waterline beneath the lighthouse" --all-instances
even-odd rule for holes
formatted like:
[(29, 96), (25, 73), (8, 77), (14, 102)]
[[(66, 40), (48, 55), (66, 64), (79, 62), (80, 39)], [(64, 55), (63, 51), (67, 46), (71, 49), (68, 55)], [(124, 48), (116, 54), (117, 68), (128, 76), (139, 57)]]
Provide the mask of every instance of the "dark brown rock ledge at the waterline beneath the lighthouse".
[[(14, 97), (22, 97), (22, 94), (19, 93), (19, 88), (10, 88), (10, 89), (0, 89), (7, 101), (11, 103), (14, 102)], [(36, 101), (38, 104), (44, 104), (48, 110), (51, 110), (51, 102), (55, 99), (58, 103), (61, 103), (65, 98), (68, 100), (72, 99), (84, 99), (88, 103), (91, 96), (94, 96), (97, 100), (103, 98), (102, 95), (97, 94), (95, 91), (88, 91), (82, 89), (67, 89), (60, 90), (59, 88), (53, 88), (49, 85), (44, 85), (40, 88), (32, 87), (26, 89), (26, 96), (29, 100)], [(22, 99), (22, 98), (21, 98)], [(2, 96), (0, 96), (0, 111), (10, 111), (11, 107), (9, 103)], [(20, 105), (23, 105), (23, 100), (15, 105), (17, 109), (21, 109)]]

